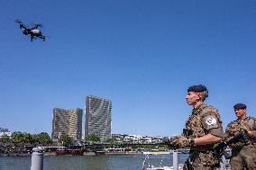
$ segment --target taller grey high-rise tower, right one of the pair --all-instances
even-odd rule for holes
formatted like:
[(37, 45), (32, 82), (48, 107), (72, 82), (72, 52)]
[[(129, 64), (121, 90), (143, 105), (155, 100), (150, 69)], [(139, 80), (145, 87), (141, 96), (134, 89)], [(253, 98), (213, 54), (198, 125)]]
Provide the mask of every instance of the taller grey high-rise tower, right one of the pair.
[(85, 137), (96, 135), (101, 141), (111, 137), (111, 111), (110, 100), (89, 95), (86, 102)]

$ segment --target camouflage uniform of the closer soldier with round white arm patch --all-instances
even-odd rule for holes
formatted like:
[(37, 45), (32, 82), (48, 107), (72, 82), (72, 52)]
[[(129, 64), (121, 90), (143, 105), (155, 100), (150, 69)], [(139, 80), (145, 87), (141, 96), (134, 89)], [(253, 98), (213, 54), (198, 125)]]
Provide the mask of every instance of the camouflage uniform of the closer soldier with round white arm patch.
[[(192, 111), (182, 136), (188, 139), (196, 139), (207, 134), (222, 138), (224, 132), (218, 111), (214, 107), (202, 103)], [(215, 157), (212, 151), (214, 145), (191, 146), (184, 169), (208, 170), (219, 166), (218, 157)]]

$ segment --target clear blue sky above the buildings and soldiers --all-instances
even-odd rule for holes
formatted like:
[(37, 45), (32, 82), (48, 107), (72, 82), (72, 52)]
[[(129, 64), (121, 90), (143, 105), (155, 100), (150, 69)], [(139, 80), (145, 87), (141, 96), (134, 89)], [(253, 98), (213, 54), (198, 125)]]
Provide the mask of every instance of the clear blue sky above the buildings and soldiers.
[[(0, 0), (0, 127), (51, 132), (52, 109), (112, 100), (113, 133), (181, 132), (190, 85), (233, 121), (256, 112), (256, 1)], [(43, 24), (30, 41), (15, 19)], [(84, 116), (85, 120), (85, 116)], [(84, 121), (83, 121), (84, 125)]]

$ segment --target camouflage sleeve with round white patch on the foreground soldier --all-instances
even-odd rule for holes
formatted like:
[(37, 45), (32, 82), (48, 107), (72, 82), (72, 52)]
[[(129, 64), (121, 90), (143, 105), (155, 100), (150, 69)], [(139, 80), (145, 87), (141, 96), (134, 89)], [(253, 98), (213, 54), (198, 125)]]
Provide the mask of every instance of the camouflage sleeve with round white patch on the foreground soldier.
[(224, 131), (222, 127), (222, 122), (219, 120), (217, 112), (206, 112), (202, 120), (202, 124), (203, 128), (208, 132), (208, 134), (223, 138)]

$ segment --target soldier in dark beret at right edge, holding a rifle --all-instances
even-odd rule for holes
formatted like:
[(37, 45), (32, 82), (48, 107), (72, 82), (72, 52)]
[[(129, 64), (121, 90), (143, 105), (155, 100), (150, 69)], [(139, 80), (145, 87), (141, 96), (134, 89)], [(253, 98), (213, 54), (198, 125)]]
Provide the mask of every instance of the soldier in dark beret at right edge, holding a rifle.
[(241, 170), (242, 166), (248, 170), (256, 169), (256, 148), (253, 144), (256, 141), (256, 119), (246, 115), (246, 105), (237, 103), (233, 106), (234, 113), (237, 116), (236, 121), (232, 121), (227, 125), (224, 133), (224, 139), (233, 137), (234, 135), (247, 131), (249, 140), (241, 140), (229, 145), (232, 148), (231, 169)]

